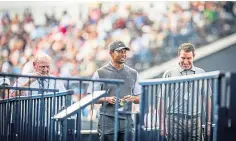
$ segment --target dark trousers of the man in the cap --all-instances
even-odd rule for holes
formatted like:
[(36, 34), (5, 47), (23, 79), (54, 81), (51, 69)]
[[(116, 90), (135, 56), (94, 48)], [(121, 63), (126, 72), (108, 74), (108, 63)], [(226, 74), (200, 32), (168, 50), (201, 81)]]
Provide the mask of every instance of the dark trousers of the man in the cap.
[(114, 134), (118, 134), (118, 141), (132, 141), (132, 119), (118, 119), (118, 129), (114, 130), (115, 118), (100, 115), (98, 120), (98, 134), (100, 141), (114, 141)]

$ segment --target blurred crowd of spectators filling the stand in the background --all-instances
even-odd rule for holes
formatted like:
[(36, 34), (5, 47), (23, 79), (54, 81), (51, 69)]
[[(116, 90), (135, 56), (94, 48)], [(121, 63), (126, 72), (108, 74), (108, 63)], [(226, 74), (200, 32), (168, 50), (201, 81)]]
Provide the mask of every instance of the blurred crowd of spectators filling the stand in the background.
[[(127, 64), (142, 71), (175, 56), (175, 47), (189, 41), (197, 47), (235, 32), (235, 2), (104, 3), (88, 6), (86, 20), (72, 22), (45, 13), (45, 24), (34, 22), (34, 13), (0, 15), (0, 71), (25, 74), (33, 70), (39, 51), (53, 58), (52, 73), (60, 77), (89, 77), (109, 60), (109, 44), (129, 45)], [(44, 13), (42, 13), (44, 14)], [(22, 17), (22, 18), (20, 18)]]

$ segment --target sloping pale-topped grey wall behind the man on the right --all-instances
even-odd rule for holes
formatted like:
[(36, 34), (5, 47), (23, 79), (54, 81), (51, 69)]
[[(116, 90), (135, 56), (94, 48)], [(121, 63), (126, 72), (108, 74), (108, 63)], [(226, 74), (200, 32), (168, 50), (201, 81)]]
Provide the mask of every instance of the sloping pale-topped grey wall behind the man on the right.
[[(234, 65), (234, 60), (236, 60), (235, 48), (236, 33), (196, 49), (194, 64), (206, 71), (223, 70), (236, 72), (236, 65)], [(160, 78), (167, 69), (177, 63), (178, 57), (140, 72), (140, 80)]]

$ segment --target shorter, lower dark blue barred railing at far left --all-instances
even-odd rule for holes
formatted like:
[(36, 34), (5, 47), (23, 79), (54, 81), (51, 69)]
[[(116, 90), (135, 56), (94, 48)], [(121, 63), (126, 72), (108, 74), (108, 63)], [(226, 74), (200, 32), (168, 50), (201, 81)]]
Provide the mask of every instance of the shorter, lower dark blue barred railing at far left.
[(50, 140), (58, 125), (51, 117), (64, 106), (73, 91), (56, 94), (18, 96), (0, 100), (1, 138), (4, 140)]

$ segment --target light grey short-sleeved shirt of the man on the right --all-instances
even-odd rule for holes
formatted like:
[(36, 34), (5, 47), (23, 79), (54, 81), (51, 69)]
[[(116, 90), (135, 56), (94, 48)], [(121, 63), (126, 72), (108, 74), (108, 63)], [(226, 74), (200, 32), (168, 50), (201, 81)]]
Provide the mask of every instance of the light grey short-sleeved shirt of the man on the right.
[[(189, 70), (182, 69), (179, 65), (166, 70), (163, 78), (200, 74), (205, 71), (201, 68), (192, 66)], [(205, 84), (204, 84), (205, 85)], [(167, 87), (167, 86), (166, 86)], [(167, 113), (180, 113), (188, 115), (197, 115), (201, 113), (201, 97), (204, 92), (202, 83), (182, 82), (178, 85), (171, 84), (170, 92), (161, 98), (167, 98)], [(159, 95), (160, 97), (160, 95)], [(193, 113), (192, 113), (193, 112)]]

